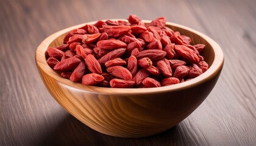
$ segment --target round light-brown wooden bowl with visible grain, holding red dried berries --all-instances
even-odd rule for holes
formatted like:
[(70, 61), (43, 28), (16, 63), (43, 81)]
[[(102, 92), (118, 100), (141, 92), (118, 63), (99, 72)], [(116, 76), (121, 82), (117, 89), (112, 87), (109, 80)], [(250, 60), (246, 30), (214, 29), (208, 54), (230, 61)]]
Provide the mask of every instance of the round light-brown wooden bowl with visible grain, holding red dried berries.
[[(144, 21), (149, 23), (150, 21)], [(70, 30), (60, 30), (37, 48), (35, 61), (44, 85), (63, 108), (100, 133), (118, 137), (144, 137), (161, 133), (189, 116), (215, 86), (224, 64), (221, 47), (208, 36), (174, 23), (167, 27), (192, 38), (192, 44), (206, 47), (202, 56), (210, 68), (187, 82), (160, 88), (116, 89), (85, 86), (61, 77), (51, 69), (45, 57), (48, 47), (59, 46)]]

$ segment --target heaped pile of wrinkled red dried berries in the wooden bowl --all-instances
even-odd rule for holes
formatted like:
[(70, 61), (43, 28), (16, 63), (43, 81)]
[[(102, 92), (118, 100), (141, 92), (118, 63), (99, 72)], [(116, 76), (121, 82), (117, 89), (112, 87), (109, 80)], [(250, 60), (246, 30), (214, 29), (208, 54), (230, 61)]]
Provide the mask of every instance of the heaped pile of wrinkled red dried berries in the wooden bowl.
[(190, 80), (208, 69), (199, 54), (205, 45), (165, 26), (165, 18), (144, 24), (98, 21), (69, 32), (63, 45), (49, 47), (47, 63), (62, 77), (84, 85), (152, 88)]

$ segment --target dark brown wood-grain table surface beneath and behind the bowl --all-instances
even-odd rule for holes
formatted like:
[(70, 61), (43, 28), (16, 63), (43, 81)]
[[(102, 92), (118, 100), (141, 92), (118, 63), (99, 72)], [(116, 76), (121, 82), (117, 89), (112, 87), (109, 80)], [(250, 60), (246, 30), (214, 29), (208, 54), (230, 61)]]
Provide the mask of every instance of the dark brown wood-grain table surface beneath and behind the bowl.
[[(0, 145), (256, 145), (256, 1), (0, 2)], [(76, 24), (164, 16), (215, 40), (225, 56), (215, 88), (187, 119), (143, 138), (92, 130), (51, 97), (35, 65), (47, 36)]]

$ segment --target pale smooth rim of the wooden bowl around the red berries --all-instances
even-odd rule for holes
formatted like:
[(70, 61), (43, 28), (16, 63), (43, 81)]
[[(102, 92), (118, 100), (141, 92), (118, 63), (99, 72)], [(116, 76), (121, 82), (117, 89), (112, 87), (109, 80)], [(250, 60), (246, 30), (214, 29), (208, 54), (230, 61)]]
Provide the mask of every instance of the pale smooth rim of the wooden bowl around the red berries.
[[(112, 19), (112, 20), (127, 21), (126, 19)], [(102, 21), (105, 21), (105, 20), (102, 20)], [(157, 88), (106, 88), (106, 87), (99, 87), (99, 86), (87, 86), (87, 85), (82, 85), (81, 83), (72, 82), (71, 80), (61, 77), (59, 74), (57, 74), (57, 72), (55, 72), (48, 65), (46, 61), (44, 53), (46, 49), (48, 49), (49, 44), (51, 44), (52, 41), (55, 40), (57, 37), (59, 37), (64, 33), (69, 32), (70, 30), (77, 29), (79, 27), (85, 26), (86, 24), (94, 24), (96, 22), (97, 21), (91, 21), (88, 23), (82, 23), (76, 26), (71, 26), (66, 29), (59, 30), (58, 32), (55, 32), (52, 35), (45, 38), (37, 47), (37, 50), (35, 52), (35, 61), (36, 61), (38, 70), (41, 69), (41, 71), (43, 71), (44, 74), (48, 74), (49, 76), (57, 80), (59, 84), (61, 84), (62, 86), (66, 86), (68, 88), (73, 88), (76, 90), (90, 92), (94, 94), (126, 94), (128, 95), (128, 94), (152, 94), (153, 92), (158, 93), (158, 92), (179, 91), (182, 89), (192, 88), (194, 86), (201, 85), (202, 83), (205, 83), (211, 78), (215, 77), (218, 74), (218, 72), (221, 71), (222, 66), (224, 64), (224, 54), (221, 50), (221, 47), (215, 41), (213, 41), (212, 38), (208, 37), (207, 35), (204, 35), (201, 32), (198, 32), (197, 30), (191, 29), (190, 27), (182, 26), (176, 23), (166, 22), (166, 25), (179, 27), (180, 29), (185, 29), (190, 32), (196, 33), (197, 35), (204, 38), (204, 40), (207, 41), (213, 47), (215, 58), (210, 68), (208, 68), (208, 70), (205, 71), (204, 74), (201, 74), (198, 77), (193, 78), (192, 80), (188, 80), (186, 82), (182, 82), (176, 85), (162, 86)], [(143, 20), (143, 22), (150, 23), (151, 21)], [(41, 75), (41, 78), (42, 78), (42, 75)]]

